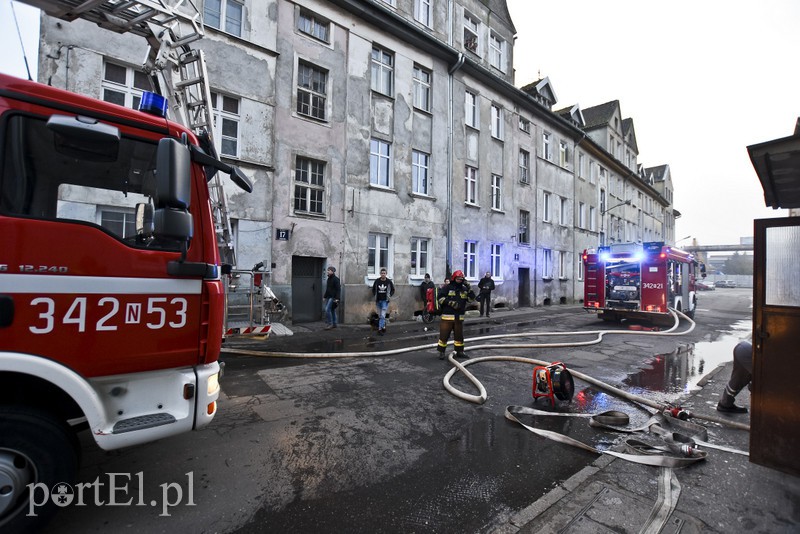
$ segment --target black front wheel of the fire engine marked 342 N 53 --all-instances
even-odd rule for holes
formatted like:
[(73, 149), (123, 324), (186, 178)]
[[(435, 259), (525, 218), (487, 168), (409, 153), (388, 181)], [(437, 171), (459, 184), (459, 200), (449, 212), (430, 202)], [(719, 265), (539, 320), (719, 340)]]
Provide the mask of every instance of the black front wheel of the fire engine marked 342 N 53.
[(38, 410), (0, 406), (0, 532), (41, 529), (58, 511), (51, 492), (72, 484), (77, 470), (76, 440), (65, 424)]

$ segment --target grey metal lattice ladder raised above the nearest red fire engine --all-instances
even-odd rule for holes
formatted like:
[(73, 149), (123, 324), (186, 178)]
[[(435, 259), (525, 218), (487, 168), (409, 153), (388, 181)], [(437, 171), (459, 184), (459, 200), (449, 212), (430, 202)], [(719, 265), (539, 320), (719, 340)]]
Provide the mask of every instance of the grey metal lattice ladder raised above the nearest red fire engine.
[[(22, 0), (67, 22), (83, 19), (117, 33), (147, 40), (143, 68), (158, 80), (174, 119), (207, 139), (214, 149), (211, 89), (202, 50), (188, 45), (203, 37), (200, 12), (191, 0)], [(208, 183), (222, 263), (236, 266), (233, 232), (219, 172)]]

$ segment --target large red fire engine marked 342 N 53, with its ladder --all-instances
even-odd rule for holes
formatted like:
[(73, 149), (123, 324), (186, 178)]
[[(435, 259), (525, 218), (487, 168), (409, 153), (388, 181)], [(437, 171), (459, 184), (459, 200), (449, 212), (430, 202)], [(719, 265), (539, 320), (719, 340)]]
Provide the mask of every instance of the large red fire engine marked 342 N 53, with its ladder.
[(216, 157), (182, 0), (29, 3), (146, 36), (171, 101), (134, 111), (0, 75), (2, 532), (57, 510), (30, 514), (31, 486), (74, 479), (77, 431), (112, 450), (212, 420), (233, 258), (219, 175), (252, 190)]

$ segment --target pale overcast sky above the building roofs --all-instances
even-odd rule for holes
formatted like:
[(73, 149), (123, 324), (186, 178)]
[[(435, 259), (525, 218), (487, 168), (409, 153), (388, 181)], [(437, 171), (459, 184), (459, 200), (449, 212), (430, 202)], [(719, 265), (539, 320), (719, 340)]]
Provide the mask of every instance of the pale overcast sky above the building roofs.
[[(800, 117), (798, 0), (508, 0), (516, 85), (547, 76), (555, 109), (619, 100), (639, 163), (668, 164), (675, 238), (735, 244), (766, 208), (747, 146), (786, 137)], [(36, 78), (38, 10), (14, 2)], [(0, 72), (27, 77), (9, 0)], [(680, 244), (685, 245), (688, 241)]]

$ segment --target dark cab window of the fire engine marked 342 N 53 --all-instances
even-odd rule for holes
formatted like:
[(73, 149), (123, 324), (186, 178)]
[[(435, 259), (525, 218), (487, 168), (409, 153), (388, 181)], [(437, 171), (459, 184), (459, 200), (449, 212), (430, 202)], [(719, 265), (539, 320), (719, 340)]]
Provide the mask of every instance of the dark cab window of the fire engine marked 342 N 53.
[(180, 248), (136, 233), (136, 205), (157, 203), (157, 143), (123, 136), (112, 157), (81, 157), (56, 148), (44, 119), (11, 114), (1, 124), (0, 214), (81, 221), (130, 246)]

